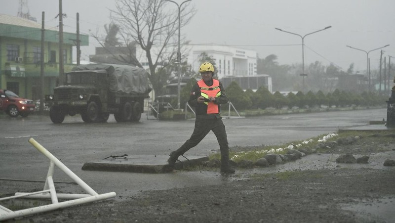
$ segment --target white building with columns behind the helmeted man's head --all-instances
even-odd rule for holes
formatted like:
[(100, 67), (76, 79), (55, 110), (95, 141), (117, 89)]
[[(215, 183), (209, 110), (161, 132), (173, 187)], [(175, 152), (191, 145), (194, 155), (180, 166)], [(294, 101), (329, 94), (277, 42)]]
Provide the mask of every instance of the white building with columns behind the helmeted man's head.
[[(256, 75), (257, 53), (254, 50), (227, 45), (185, 45), (187, 62), (193, 70), (200, 66), (200, 55), (206, 53), (215, 59), (217, 78), (226, 76), (247, 77)], [(198, 71), (197, 71), (198, 72)]]

